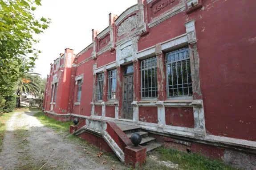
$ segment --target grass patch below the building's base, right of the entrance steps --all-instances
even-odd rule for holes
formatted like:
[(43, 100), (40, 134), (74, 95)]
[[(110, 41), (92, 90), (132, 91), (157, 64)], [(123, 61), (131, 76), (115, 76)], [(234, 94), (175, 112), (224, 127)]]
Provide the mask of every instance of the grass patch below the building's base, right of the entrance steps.
[(179, 169), (183, 170), (237, 170), (230, 165), (226, 165), (223, 161), (209, 159), (195, 153), (189, 154), (164, 147), (156, 149), (154, 153), (158, 155), (159, 160), (171, 161), (178, 164)]

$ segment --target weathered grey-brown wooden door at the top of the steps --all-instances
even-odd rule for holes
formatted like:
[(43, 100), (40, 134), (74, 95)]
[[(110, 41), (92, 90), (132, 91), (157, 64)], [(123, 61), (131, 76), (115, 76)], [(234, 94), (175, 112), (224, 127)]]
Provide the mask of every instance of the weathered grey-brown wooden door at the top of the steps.
[(123, 79), (123, 103), (122, 103), (122, 118), (133, 119), (133, 108), (131, 103), (133, 102), (133, 75), (127, 75)]

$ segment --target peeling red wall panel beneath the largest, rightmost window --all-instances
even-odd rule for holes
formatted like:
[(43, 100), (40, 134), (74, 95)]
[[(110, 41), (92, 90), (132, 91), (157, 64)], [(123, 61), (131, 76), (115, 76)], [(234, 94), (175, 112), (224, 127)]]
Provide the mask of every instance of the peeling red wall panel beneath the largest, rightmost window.
[(194, 128), (193, 107), (165, 107), (167, 125)]

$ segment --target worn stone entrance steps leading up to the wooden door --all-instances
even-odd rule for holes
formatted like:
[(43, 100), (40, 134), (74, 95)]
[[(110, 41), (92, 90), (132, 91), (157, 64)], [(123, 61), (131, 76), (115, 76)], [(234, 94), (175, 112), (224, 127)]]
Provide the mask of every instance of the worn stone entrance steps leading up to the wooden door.
[(148, 132), (142, 131), (141, 127), (135, 127), (130, 125), (124, 125), (117, 123), (118, 127), (130, 138), (132, 134), (138, 133), (142, 137), (140, 146), (146, 147), (146, 151), (154, 150), (155, 148), (162, 146), (161, 143), (155, 142), (155, 138), (148, 136)]

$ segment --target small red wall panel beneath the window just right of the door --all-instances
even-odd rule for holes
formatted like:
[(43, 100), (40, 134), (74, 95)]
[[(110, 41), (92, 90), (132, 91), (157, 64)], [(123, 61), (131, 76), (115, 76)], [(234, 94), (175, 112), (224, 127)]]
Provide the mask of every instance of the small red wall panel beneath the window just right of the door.
[(157, 107), (138, 107), (139, 121), (157, 123)]

